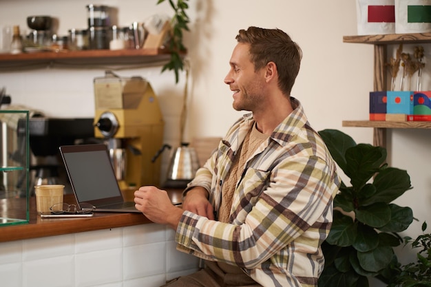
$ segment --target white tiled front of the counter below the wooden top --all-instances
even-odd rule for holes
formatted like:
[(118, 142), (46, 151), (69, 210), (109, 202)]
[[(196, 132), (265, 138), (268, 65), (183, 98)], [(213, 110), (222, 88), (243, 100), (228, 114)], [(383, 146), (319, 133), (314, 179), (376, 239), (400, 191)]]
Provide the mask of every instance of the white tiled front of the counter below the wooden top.
[(161, 286), (198, 269), (196, 257), (176, 250), (174, 236), (143, 224), (0, 243), (1, 286)]

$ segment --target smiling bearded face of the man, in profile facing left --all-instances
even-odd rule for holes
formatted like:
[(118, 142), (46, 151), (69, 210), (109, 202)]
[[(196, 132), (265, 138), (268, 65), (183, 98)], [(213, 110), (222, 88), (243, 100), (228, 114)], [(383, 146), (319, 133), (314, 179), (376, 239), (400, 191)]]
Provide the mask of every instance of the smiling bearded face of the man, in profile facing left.
[(238, 43), (233, 49), (231, 69), (224, 83), (233, 91), (233, 108), (237, 111), (255, 111), (264, 100), (264, 69), (255, 72), (250, 61), (249, 44)]

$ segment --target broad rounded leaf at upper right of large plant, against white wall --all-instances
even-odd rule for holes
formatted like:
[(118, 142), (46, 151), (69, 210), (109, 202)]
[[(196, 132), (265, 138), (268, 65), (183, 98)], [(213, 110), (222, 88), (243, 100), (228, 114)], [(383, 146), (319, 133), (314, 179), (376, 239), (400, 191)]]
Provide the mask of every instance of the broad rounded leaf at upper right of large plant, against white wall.
[(373, 183), (377, 189), (375, 195), (364, 200), (361, 204), (367, 205), (372, 202), (390, 203), (392, 200), (399, 198), (408, 189), (411, 189), (410, 176), (408, 176), (407, 171), (395, 167), (388, 167), (380, 171), (375, 176)]

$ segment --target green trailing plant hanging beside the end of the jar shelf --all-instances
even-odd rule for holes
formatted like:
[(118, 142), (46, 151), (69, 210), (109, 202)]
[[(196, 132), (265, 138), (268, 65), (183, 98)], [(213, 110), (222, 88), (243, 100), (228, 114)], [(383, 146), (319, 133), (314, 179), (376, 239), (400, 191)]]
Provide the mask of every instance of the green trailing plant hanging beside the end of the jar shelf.
[[(186, 50), (184, 44), (182, 43), (182, 32), (183, 30), (189, 31), (189, 16), (186, 10), (189, 8), (187, 4), (189, 0), (169, 0), (171, 8), (174, 10), (174, 17), (171, 20), (171, 34), (169, 37), (169, 52), (171, 54), (171, 59), (167, 64), (162, 67), (162, 72), (165, 70), (174, 70), (175, 72), (175, 83), (179, 81), (179, 72), (184, 69), (184, 61), (180, 52)], [(165, 0), (158, 0), (157, 5), (165, 2)]]

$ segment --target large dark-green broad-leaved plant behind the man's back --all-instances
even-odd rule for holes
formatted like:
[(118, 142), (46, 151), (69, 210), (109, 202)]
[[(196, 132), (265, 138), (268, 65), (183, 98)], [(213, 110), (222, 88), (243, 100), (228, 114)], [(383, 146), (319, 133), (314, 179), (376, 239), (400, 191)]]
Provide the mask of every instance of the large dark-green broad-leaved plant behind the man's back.
[(341, 181), (334, 199), (333, 225), (322, 244), (325, 268), (319, 287), (367, 287), (368, 277), (388, 284), (397, 262), (397, 234), (410, 226), (412, 209), (392, 201), (412, 189), (404, 170), (388, 167), (386, 149), (357, 144), (336, 129), (319, 131), (339, 168)]

